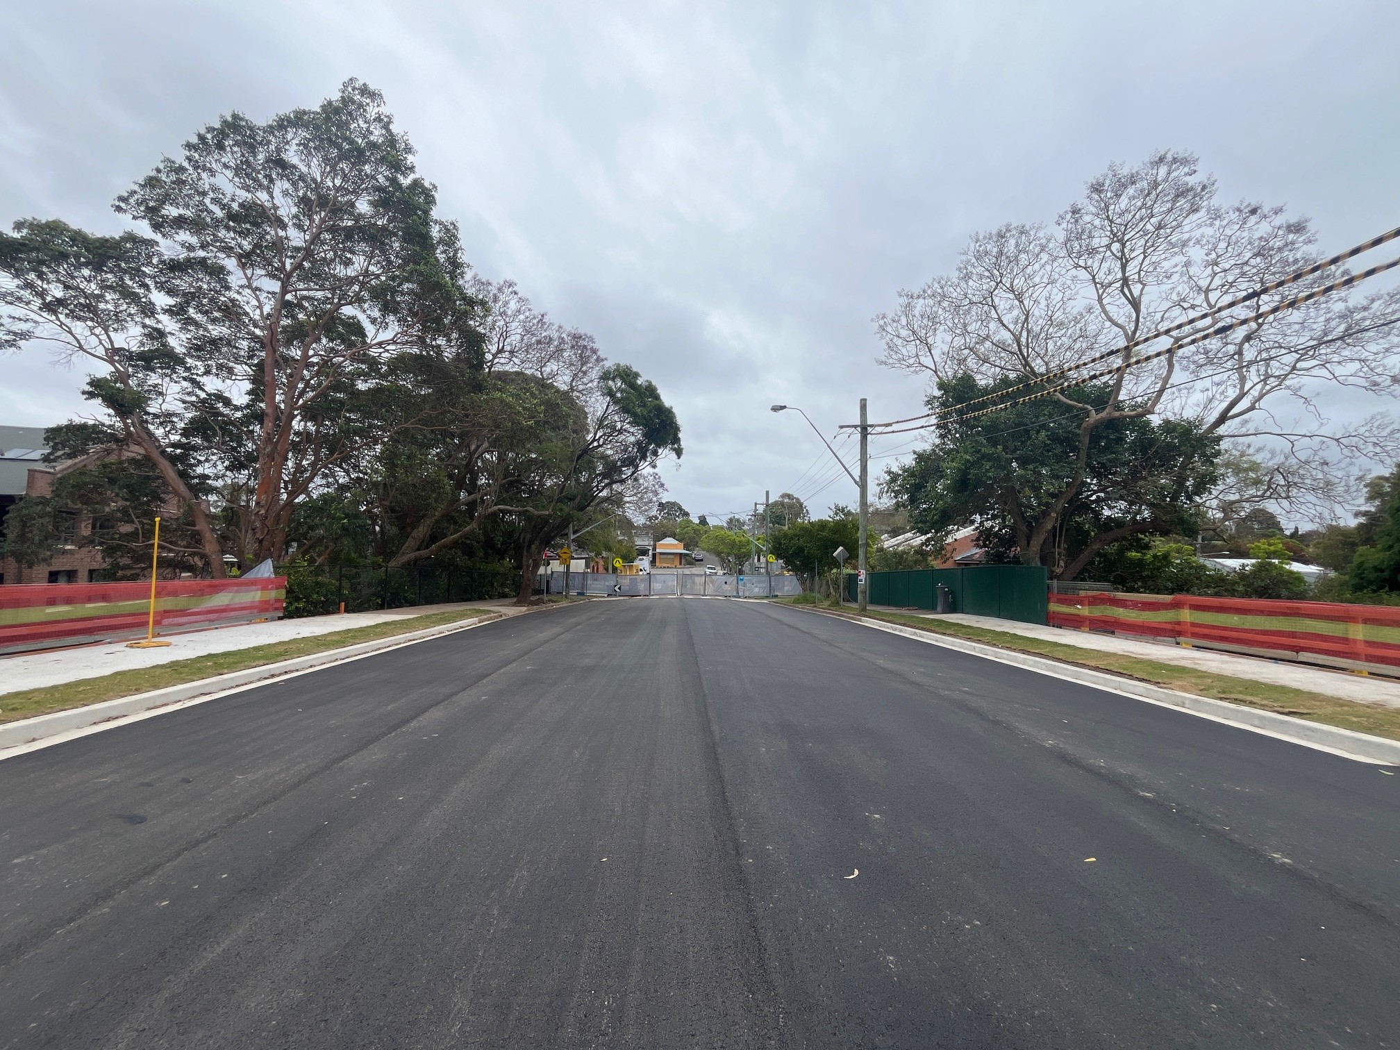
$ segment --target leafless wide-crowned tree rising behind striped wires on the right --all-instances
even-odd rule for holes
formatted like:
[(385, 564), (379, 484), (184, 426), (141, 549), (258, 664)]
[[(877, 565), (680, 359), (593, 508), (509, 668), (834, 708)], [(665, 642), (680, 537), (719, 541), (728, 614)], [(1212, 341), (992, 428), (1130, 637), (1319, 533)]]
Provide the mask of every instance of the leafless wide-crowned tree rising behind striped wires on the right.
[[(1092, 435), (1116, 419), (1190, 420), (1205, 434), (1247, 445), (1271, 479), (1253, 489), (1256, 498), (1313, 518), (1351, 498), (1338, 477), (1355, 473), (1359, 461), (1400, 454), (1387, 416), (1333, 428), (1322, 406), (1327, 388), (1382, 396), (1400, 389), (1400, 293), (1337, 293), (1133, 365), (1145, 349), (1131, 344), (1152, 332), (1317, 258), (1308, 220), (1253, 203), (1224, 206), (1215, 193), (1191, 154), (1159, 151), (1137, 167), (1112, 165), (1058, 216), (1054, 231), (1005, 225), (976, 234), (953, 274), (902, 291), (896, 309), (875, 318), (882, 363), (924, 374), (931, 385), (969, 374), (984, 384), (1035, 381), (1091, 357), (1109, 356), (1096, 368), (1116, 361), (1100, 402), (1054, 393), (1082, 416), (1079, 455), (1030, 529), (1025, 560), (1039, 561), (1063, 512), (1081, 497)], [(1343, 273), (1316, 274), (1175, 339), (1261, 312)], [(1166, 346), (1162, 340), (1151, 350)]]

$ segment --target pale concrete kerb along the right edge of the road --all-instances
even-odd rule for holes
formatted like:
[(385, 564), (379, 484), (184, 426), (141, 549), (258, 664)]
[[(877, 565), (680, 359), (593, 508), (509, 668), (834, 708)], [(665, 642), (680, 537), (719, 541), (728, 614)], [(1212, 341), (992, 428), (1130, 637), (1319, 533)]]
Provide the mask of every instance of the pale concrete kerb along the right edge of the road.
[[(799, 605), (792, 608), (802, 609)], [(871, 620), (860, 616), (832, 613), (823, 609), (804, 609), (804, 612), (815, 612), (819, 616), (833, 616), (834, 619), (854, 622), (864, 627), (888, 631), (889, 634), (902, 634), (906, 638), (914, 638), (917, 641), (928, 643), (930, 645), (942, 645), (944, 648), (969, 652), (974, 657), (983, 657), (986, 659), (995, 659), (1001, 664), (1026, 668), (1028, 671), (1035, 671), (1042, 675), (1063, 678), (1068, 682), (1079, 682), (1082, 685), (1093, 686), (1095, 689), (1102, 689), (1110, 693), (1119, 693), (1120, 696), (1127, 696), (1134, 700), (1147, 700), (1148, 703), (1175, 707), (1200, 718), (1225, 722), (1240, 729), (1249, 729), (1250, 732), (1259, 732), (1266, 736), (1288, 741), (1289, 743), (1301, 743), (1305, 748), (1330, 752), (1345, 759), (1355, 759), (1358, 762), (1371, 762), (1385, 766), (1400, 764), (1400, 741), (1390, 741), (1385, 736), (1372, 736), (1371, 734), (1343, 729), (1336, 725), (1309, 722), (1303, 718), (1294, 718), (1287, 714), (1260, 711), (1254, 707), (1232, 704), (1228, 700), (1212, 700), (1193, 693), (1179, 693), (1175, 689), (1163, 689), (1162, 686), (1154, 686), (1148, 682), (1137, 682), (1131, 678), (1119, 678), (1117, 675), (1106, 671), (1091, 671), (1089, 668), (1079, 668), (1072, 664), (1061, 664), (1060, 661), (1050, 659), (1047, 657), (1035, 657), (1029, 652), (997, 648), (995, 645), (955, 638), (946, 634), (932, 634), (931, 631), (921, 631), (916, 627), (904, 627), (897, 623), (885, 623), (882, 620)]]

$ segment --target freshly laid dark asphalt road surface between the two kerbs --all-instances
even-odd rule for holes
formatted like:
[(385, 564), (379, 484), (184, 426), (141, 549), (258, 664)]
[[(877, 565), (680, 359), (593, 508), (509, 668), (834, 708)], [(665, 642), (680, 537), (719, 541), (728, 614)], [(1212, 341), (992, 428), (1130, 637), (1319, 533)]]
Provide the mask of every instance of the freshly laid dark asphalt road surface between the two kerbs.
[(759, 602), (272, 683), (0, 812), (7, 1047), (1400, 1046), (1400, 777)]

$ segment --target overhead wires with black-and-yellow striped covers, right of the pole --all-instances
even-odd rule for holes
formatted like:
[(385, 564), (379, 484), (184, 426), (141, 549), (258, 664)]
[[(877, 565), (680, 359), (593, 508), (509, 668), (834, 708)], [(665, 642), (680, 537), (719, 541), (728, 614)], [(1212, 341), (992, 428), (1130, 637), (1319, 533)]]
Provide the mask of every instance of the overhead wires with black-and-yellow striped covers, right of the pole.
[[(1361, 281), (1364, 281), (1364, 280), (1366, 280), (1369, 277), (1375, 277), (1378, 273), (1385, 273), (1386, 270), (1392, 270), (1396, 266), (1400, 266), (1400, 258), (1392, 259), (1387, 263), (1379, 263), (1379, 265), (1372, 266), (1372, 267), (1369, 267), (1366, 270), (1350, 274), (1347, 277), (1343, 277), (1340, 280), (1331, 281), (1330, 284), (1324, 284), (1324, 286), (1322, 286), (1319, 288), (1313, 288), (1312, 291), (1303, 293), (1301, 295), (1294, 295), (1292, 298), (1284, 300), (1282, 302), (1278, 302), (1278, 304), (1270, 307), (1268, 309), (1261, 309), (1261, 311), (1257, 311), (1256, 314), (1250, 314), (1249, 316), (1236, 318), (1233, 321), (1222, 322), (1222, 323), (1219, 323), (1219, 325), (1217, 325), (1214, 328), (1210, 328), (1210, 329), (1207, 329), (1204, 332), (1198, 332), (1198, 333), (1196, 333), (1193, 336), (1189, 336), (1186, 339), (1173, 340), (1170, 346), (1168, 346), (1168, 347), (1165, 347), (1162, 350), (1156, 350), (1156, 351), (1149, 353), (1149, 354), (1142, 354), (1141, 357), (1135, 357), (1135, 358), (1130, 357), (1130, 360), (1120, 361), (1119, 364), (1114, 364), (1110, 368), (1103, 368), (1103, 370), (1096, 371), (1096, 372), (1089, 372), (1088, 375), (1078, 375), (1078, 377), (1074, 377), (1071, 379), (1067, 379), (1065, 382), (1054, 384), (1054, 385), (1046, 386), (1044, 389), (1036, 391), (1033, 393), (1028, 393), (1028, 395), (1023, 395), (1021, 398), (1015, 398), (1014, 400), (1008, 400), (1008, 402), (1004, 402), (1004, 403), (1000, 403), (1000, 405), (991, 405), (988, 407), (979, 409), (976, 412), (967, 412), (967, 409), (976, 407), (977, 405), (986, 405), (988, 402), (1000, 402), (1001, 399), (1004, 399), (1004, 398), (1007, 398), (1009, 395), (1014, 395), (1014, 393), (1016, 393), (1019, 391), (1028, 389), (1030, 386), (1036, 386), (1036, 385), (1040, 385), (1040, 384), (1047, 384), (1047, 382), (1051, 382), (1054, 379), (1060, 379), (1060, 378), (1068, 377), (1068, 375), (1071, 375), (1074, 372), (1078, 372), (1081, 368), (1088, 368), (1089, 365), (1098, 364), (1099, 361), (1106, 361), (1109, 358), (1116, 358), (1116, 357), (1131, 356), (1131, 353), (1134, 350), (1137, 350), (1138, 347), (1141, 347), (1141, 346), (1147, 346), (1148, 343), (1154, 343), (1158, 339), (1163, 339), (1166, 336), (1183, 332), (1183, 330), (1186, 330), (1189, 328), (1193, 328), (1193, 326), (1196, 326), (1196, 325), (1198, 325), (1198, 323), (1201, 323), (1204, 321), (1210, 321), (1210, 319), (1215, 318), (1217, 315), (1219, 315), (1219, 314), (1222, 314), (1222, 312), (1225, 312), (1228, 309), (1233, 309), (1235, 307), (1240, 307), (1240, 305), (1243, 305), (1246, 302), (1253, 302), (1253, 301), (1259, 300), (1261, 295), (1267, 295), (1271, 291), (1277, 291), (1278, 288), (1284, 288), (1284, 287), (1288, 287), (1289, 284), (1295, 284), (1295, 283), (1298, 283), (1298, 281), (1301, 281), (1301, 280), (1303, 280), (1306, 277), (1313, 276), (1315, 273), (1320, 273), (1322, 270), (1330, 269), (1330, 267), (1333, 267), (1333, 266), (1336, 266), (1336, 265), (1338, 265), (1341, 262), (1345, 262), (1347, 259), (1352, 259), (1352, 258), (1361, 255), (1362, 252), (1369, 252), (1372, 248), (1383, 245), (1387, 241), (1394, 241), (1396, 238), (1400, 238), (1400, 227), (1396, 227), (1394, 230), (1390, 230), (1389, 232), (1380, 234), (1379, 237), (1373, 237), (1369, 241), (1365, 241), (1364, 244), (1357, 245), (1355, 248), (1350, 248), (1345, 252), (1341, 252), (1338, 255), (1331, 256), (1330, 259), (1323, 259), (1322, 262), (1312, 263), (1310, 266), (1305, 266), (1303, 269), (1296, 270), (1295, 273), (1291, 273), (1287, 277), (1280, 277), (1278, 280), (1270, 281), (1268, 284), (1264, 284), (1263, 287), (1254, 288), (1253, 291), (1249, 291), (1249, 293), (1246, 293), (1243, 295), (1236, 295), (1232, 300), (1226, 300), (1225, 302), (1221, 302), (1221, 304), (1212, 307), (1211, 309), (1203, 311), (1201, 314), (1197, 314), (1194, 316), (1186, 318), (1184, 321), (1179, 321), (1175, 325), (1169, 325), (1168, 328), (1158, 329), (1156, 332), (1152, 332), (1151, 335), (1141, 336), (1138, 339), (1134, 339), (1130, 343), (1124, 343), (1123, 346), (1114, 347), (1113, 350), (1107, 350), (1107, 351), (1105, 351), (1102, 354), (1096, 354), (1093, 357), (1085, 358), (1084, 361), (1077, 361), (1075, 364), (1065, 365), (1063, 368), (1057, 368), (1054, 371), (1046, 372), (1044, 375), (1037, 375), (1037, 377), (1029, 378), (1025, 382), (1016, 384), (1015, 386), (1011, 386), (1011, 388), (1008, 388), (1005, 391), (997, 391), (995, 393), (988, 393), (988, 395), (984, 395), (981, 398), (976, 398), (973, 400), (963, 402), (962, 405), (956, 405), (956, 406), (953, 406), (951, 409), (939, 409), (938, 412), (928, 412), (928, 413), (924, 413), (921, 416), (910, 416), (907, 419), (890, 420), (889, 423), (872, 423), (872, 424), (869, 424), (869, 433), (872, 433), (872, 434), (907, 434), (910, 431), (927, 430), (927, 428), (930, 428), (932, 426), (937, 426), (939, 423), (946, 423), (946, 421), (952, 421), (952, 420), (962, 421), (962, 420), (977, 419), (979, 416), (987, 416), (987, 414), (994, 413), (994, 412), (1001, 412), (1002, 409), (1015, 407), (1016, 405), (1025, 405), (1025, 403), (1032, 402), (1032, 400), (1039, 400), (1040, 398), (1049, 398), (1049, 396), (1051, 396), (1054, 393), (1058, 393), (1060, 391), (1071, 389), (1074, 386), (1081, 386), (1081, 385), (1084, 385), (1086, 382), (1093, 382), (1095, 379), (1103, 379), (1103, 378), (1110, 377), (1110, 375), (1117, 375), (1117, 374), (1120, 374), (1120, 372), (1123, 372), (1123, 371), (1126, 371), (1128, 368), (1137, 368), (1138, 365), (1147, 364), (1149, 361), (1156, 361), (1156, 360), (1159, 360), (1162, 357), (1168, 357), (1170, 354), (1175, 354), (1177, 350), (1184, 350), (1189, 346), (1196, 346), (1197, 343), (1204, 343), (1208, 339), (1215, 339), (1218, 336), (1226, 335), (1228, 332), (1233, 332), (1235, 329), (1242, 328), (1245, 325), (1250, 325), (1250, 323), (1254, 323), (1257, 321), (1264, 321), (1266, 318), (1271, 318), (1275, 314), (1281, 314), (1281, 312), (1284, 312), (1287, 309), (1294, 309), (1295, 307), (1301, 307), (1305, 302), (1312, 302), (1313, 300), (1322, 298), (1323, 295), (1330, 295), (1330, 294), (1333, 294), (1336, 291), (1341, 291), (1343, 288), (1348, 288), (1348, 287), (1351, 287), (1354, 284), (1358, 284), (1358, 283), (1361, 283)], [(916, 426), (900, 427), (897, 430), (890, 430), (890, 427), (899, 427), (899, 424), (902, 424), (902, 423), (914, 423)], [(846, 428), (855, 428), (855, 426), (857, 424), (847, 423), (847, 424), (843, 424), (841, 428), (843, 430), (846, 430)]]

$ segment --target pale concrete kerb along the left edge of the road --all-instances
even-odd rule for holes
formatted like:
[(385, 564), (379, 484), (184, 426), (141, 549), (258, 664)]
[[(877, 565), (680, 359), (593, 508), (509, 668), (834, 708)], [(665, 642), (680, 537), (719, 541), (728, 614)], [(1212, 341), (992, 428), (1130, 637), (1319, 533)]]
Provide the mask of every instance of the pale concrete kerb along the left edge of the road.
[(0, 724), (0, 760), (8, 759), (14, 755), (31, 752), (50, 743), (59, 743), (62, 741), (55, 739), (59, 736), (62, 736), (62, 739), (85, 736), (88, 732), (97, 732), (104, 728), (115, 728), (118, 724), (136, 721), (155, 714), (164, 714), (165, 711), (190, 707), (196, 703), (252, 689), (253, 686), (263, 685), (265, 682), (276, 678), (286, 678), (288, 675), (298, 675), (308, 671), (319, 671), (321, 668), (330, 666), (332, 664), (344, 664), (351, 659), (360, 659), (361, 657), (384, 652), (385, 650), (399, 648), (400, 645), (413, 645), (414, 643), (427, 641), (428, 638), (437, 638), (444, 634), (454, 634), (456, 631), (479, 627), (483, 623), (493, 623), (496, 620), (504, 620), (524, 613), (543, 612), (545, 609), (563, 608), (567, 608), (567, 605), (545, 605), (511, 612), (486, 613), (484, 616), (473, 616), (468, 620), (444, 623), (437, 627), (424, 627), (423, 630), (407, 631), (406, 634), (393, 634), (388, 638), (361, 641), (356, 645), (326, 650), (325, 652), (314, 652), (307, 657), (295, 657), (294, 659), (284, 659), (276, 664), (262, 664), (256, 668), (231, 671), (227, 675), (217, 675), (197, 682), (168, 686), (150, 693), (136, 693), (133, 696), (118, 697), (116, 700), (104, 700), (102, 703), (87, 704), (85, 707), (73, 707), (66, 711), (53, 711), (50, 714), (35, 715), (34, 718), (21, 718), (13, 722), (4, 722)]

